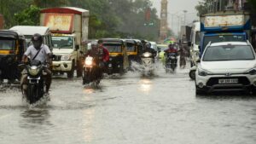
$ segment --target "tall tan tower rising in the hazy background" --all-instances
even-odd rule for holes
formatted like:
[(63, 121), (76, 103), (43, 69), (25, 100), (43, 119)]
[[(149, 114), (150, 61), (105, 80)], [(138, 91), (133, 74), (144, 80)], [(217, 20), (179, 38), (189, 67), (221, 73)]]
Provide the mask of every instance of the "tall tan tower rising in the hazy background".
[(161, 13), (160, 13), (160, 38), (159, 41), (163, 42), (167, 38), (168, 34), (168, 2), (167, 0), (161, 0)]

